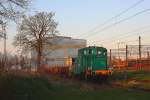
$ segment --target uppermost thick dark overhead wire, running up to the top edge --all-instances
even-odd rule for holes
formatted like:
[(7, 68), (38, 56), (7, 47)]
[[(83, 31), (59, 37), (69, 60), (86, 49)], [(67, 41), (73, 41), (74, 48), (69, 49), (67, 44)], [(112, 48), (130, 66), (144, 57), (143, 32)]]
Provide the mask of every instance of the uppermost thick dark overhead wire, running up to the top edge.
[(86, 33), (83, 33), (83, 34), (80, 34), (79, 36), (77, 37), (81, 37), (82, 35), (85, 35), (87, 33), (91, 33), (93, 31), (95, 31), (96, 29), (106, 25), (107, 23), (109, 23), (110, 21), (112, 21), (113, 19), (117, 18), (117, 17), (120, 17), (121, 15), (125, 14), (126, 12), (128, 12), (129, 10), (131, 10), (132, 8), (136, 7), (137, 5), (139, 5), (140, 3), (142, 3), (144, 0), (139, 0), (138, 2), (136, 2), (135, 4), (131, 5), (129, 8), (123, 10), (122, 12), (120, 12), (119, 14), (111, 17), (110, 19), (106, 20), (103, 24), (101, 25), (98, 25), (97, 27), (91, 29), (90, 31), (86, 32)]

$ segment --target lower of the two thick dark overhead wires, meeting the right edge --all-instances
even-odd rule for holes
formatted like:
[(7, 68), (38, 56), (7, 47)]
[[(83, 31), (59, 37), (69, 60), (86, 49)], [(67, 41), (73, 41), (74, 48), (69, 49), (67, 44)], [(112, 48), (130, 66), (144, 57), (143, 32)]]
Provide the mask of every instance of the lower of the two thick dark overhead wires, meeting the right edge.
[[(103, 31), (105, 31), (105, 30), (107, 30), (107, 29), (113, 27), (114, 25), (120, 24), (120, 23), (122, 23), (122, 22), (124, 22), (124, 21), (127, 21), (127, 20), (129, 20), (129, 19), (132, 19), (132, 18), (134, 18), (134, 17), (136, 17), (136, 16), (138, 16), (138, 15), (140, 15), (140, 14), (143, 14), (143, 13), (149, 11), (149, 10), (150, 10), (150, 8), (144, 9), (144, 10), (142, 10), (142, 11), (140, 11), (140, 12), (135, 13), (134, 15), (131, 15), (131, 16), (127, 17), (127, 18), (124, 18), (124, 19), (122, 19), (122, 20), (120, 20), (120, 21), (118, 21), (118, 22), (115, 22), (115, 23), (113, 23), (113, 24), (111, 24), (111, 25), (109, 25), (109, 26), (106, 26), (106, 27), (102, 28), (101, 30), (95, 32), (95, 34), (89, 34), (89, 35), (86, 36), (86, 37), (89, 37), (89, 36), (91, 36), (91, 35), (94, 36), (94, 35), (96, 35), (96, 34), (99, 33), (99, 32), (103, 32)], [(92, 36), (91, 36), (91, 37), (92, 37)], [(86, 38), (86, 37), (85, 37), (85, 38)]]

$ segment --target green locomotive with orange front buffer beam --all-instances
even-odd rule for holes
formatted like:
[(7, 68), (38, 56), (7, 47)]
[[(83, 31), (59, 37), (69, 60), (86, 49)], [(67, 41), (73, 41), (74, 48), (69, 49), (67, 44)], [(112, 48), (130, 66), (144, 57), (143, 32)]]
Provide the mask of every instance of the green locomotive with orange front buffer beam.
[(107, 64), (107, 49), (97, 46), (80, 49), (78, 51), (74, 74), (84, 76), (111, 74)]

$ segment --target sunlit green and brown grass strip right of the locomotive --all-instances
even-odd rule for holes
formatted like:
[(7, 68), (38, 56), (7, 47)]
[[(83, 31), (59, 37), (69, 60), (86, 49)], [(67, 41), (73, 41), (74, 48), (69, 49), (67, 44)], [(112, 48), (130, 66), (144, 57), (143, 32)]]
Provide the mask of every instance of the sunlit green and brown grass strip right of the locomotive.
[(127, 87), (136, 87), (150, 89), (150, 72), (148, 71), (135, 71), (135, 72), (115, 72), (109, 81), (112, 83), (122, 84)]

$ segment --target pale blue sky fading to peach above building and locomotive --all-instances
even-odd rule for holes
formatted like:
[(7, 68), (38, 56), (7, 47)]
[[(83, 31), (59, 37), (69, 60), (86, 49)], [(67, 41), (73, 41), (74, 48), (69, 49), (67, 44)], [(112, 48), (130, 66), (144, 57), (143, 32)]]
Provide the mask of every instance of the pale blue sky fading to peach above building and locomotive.
[[(100, 26), (138, 1), (140, 0), (35, 0), (30, 14), (36, 11), (55, 12), (59, 33), (73, 38), (87, 39), (88, 45), (116, 48), (117, 42), (124, 42), (122, 46), (137, 44), (139, 35), (142, 36), (142, 43), (150, 44), (150, 10), (120, 24), (112, 25), (150, 8), (150, 0), (144, 0), (106, 25)], [(99, 27), (95, 29), (97, 26)], [(107, 28), (108, 26), (111, 27)], [(103, 30), (105, 27), (106, 29)], [(7, 33), (8, 49), (12, 51), (11, 42), (17, 33), (14, 24), (8, 26)], [(2, 50), (2, 41), (0, 44)]]

